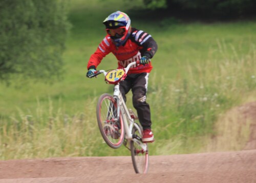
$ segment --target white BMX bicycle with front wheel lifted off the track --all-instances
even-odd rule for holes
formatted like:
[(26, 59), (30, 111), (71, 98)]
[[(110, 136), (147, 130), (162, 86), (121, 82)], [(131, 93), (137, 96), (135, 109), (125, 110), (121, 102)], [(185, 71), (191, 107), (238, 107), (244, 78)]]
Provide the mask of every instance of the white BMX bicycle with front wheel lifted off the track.
[(103, 140), (111, 148), (117, 149), (123, 144), (131, 151), (132, 163), (136, 173), (148, 171), (148, 148), (142, 142), (143, 130), (136, 123), (135, 113), (128, 109), (119, 90), (120, 81), (124, 80), (131, 66), (139, 61), (129, 63), (125, 68), (117, 70), (99, 70), (92, 77), (104, 74), (106, 83), (114, 84), (114, 94), (102, 94), (97, 103), (97, 123)]

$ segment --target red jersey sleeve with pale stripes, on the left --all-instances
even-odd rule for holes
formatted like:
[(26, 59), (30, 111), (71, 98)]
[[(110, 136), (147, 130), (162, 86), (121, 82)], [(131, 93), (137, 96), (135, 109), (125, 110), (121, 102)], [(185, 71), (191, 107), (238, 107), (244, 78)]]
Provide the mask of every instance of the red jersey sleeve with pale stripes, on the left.
[(94, 68), (96, 70), (97, 66), (100, 64), (101, 60), (111, 52), (111, 39), (106, 36), (99, 44), (97, 50), (91, 55), (87, 69)]

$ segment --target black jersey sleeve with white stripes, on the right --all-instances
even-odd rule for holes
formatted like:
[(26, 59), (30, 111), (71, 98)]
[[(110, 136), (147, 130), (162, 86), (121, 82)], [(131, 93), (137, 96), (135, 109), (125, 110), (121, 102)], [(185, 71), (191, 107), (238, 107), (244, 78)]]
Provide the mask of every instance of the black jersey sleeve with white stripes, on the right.
[(150, 34), (142, 30), (133, 29), (131, 39), (142, 47), (140, 50), (142, 57), (147, 56), (148, 58), (153, 58), (158, 47), (156, 41)]

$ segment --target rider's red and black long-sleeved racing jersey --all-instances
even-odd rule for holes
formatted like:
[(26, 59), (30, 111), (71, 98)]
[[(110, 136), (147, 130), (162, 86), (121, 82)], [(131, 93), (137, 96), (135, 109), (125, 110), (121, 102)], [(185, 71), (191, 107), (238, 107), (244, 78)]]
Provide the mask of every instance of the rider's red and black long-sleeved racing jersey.
[[(110, 52), (118, 60), (118, 68), (126, 67), (127, 64), (139, 60), (142, 56), (152, 58), (157, 51), (157, 44), (150, 34), (132, 28), (129, 38), (123, 45), (116, 47), (109, 35), (106, 35), (99, 44), (96, 52), (91, 55), (87, 68), (96, 69), (103, 57)], [(145, 65), (131, 67), (128, 74), (150, 73), (151, 62)]]

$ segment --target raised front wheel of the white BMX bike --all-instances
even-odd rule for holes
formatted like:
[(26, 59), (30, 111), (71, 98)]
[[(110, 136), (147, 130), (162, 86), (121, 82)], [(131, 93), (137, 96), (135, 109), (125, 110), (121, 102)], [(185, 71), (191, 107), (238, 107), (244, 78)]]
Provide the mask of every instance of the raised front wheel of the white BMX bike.
[(124, 126), (121, 113), (119, 122), (114, 122), (117, 115), (116, 107), (117, 103), (111, 95), (102, 94), (98, 99), (96, 108), (97, 122), (102, 138), (113, 149), (119, 148), (124, 140)]

